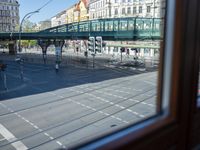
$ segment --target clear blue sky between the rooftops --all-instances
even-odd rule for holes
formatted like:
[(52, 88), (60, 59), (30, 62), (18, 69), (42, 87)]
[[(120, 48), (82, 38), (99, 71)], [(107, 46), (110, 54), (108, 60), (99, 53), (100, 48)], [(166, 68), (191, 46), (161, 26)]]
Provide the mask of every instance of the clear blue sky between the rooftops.
[[(35, 11), (46, 4), (49, 0), (18, 0), (20, 7), (20, 20), (29, 12)], [(55, 16), (57, 13), (71, 7), (78, 0), (51, 0), (39, 13), (32, 15), (29, 20), (34, 23), (44, 21)]]

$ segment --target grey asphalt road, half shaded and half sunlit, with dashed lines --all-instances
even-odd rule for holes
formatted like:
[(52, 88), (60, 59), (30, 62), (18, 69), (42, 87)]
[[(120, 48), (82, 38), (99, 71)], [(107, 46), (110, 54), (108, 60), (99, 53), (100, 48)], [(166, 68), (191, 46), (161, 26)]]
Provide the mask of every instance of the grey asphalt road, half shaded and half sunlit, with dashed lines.
[[(157, 72), (7, 62), (0, 149), (69, 148), (156, 113)], [(12, 82), (11, 82), (12, 81)], [(1, 82), (1, 81), (0, 81)]]

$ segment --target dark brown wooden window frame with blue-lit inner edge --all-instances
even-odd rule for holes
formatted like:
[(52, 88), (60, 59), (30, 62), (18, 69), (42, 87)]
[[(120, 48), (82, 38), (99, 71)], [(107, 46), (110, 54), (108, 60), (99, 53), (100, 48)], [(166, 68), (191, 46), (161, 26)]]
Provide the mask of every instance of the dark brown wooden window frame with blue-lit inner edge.
[[(200, 109), (195, 109), (197, 108), (195, 104), (200, 57), (198, 42), (200, 37), (198, 33), (200, 32), (197, 32), (200, 31), (198, 26), (200, 19), (197, 19), (197, 12), (200, 12), (198, 11), (200, 2), (198, 0), (169, 1), (175, 3), (175, 15), (173, 15), (175, 19), (173, 19), (173, 24), (171, 23), (174, 32), (167, 29), (169, 26), (165, 28), (165, 42), (161, 44), (161, 47), (165, 47), (165, 52), (169, 48), (173, 50), (173, 55), (168, 56), (171, 57), (170, 74), (173, 77), (168, 79), (170, 110), (166, 113), (158, 109), (157, 111), (162, 113), (157, 116), (86, 145), (81, 144), (78, 146), (81, 149), (131, 149), (134, 147), (134, 150), (137, 150), (146, 149), (149, 146), (152, 149), (187, 149), (193, 146), (191, 145), (192, 129), (190, 127), (192, 124), (190, 121), (194, 118), (194, 111), (191, 109), (194, 109), (195, 114), (200, 116)], [(167, 9), (168, 12), (171, 12), (170, 8)], [(170, 17), (172, 16), (168, 14), (167, 23), (169, 23)], [(171, 41), (173, 43), (169, 42), (170, 35), (168, 33), (170, 32), (173, 33), (173, 41)], [(195, 50), (191, 51), (191, 48)], [(159, 68), (161, 71), (159, 71), (158, 99), (165, 96), (166, 87), (164, 86), (167, 85), (162, 86), (162, 83), (166, 82), (166, 71), (168, 71), (166, 70), (167, 66), (164, 67), (166, 64), (163, 63), (166, 61), (166, 55), (163, 51), (160, 55), (163, 61), (161, 61)], [(189, 72), (184, 74), (185, 71)], [(162, 74), (162, 72), (164, 73)], [(161, 87), (164, 87), (163, 90)], [(158, 105), (162, 107), (163, 103), (158, 100)]]

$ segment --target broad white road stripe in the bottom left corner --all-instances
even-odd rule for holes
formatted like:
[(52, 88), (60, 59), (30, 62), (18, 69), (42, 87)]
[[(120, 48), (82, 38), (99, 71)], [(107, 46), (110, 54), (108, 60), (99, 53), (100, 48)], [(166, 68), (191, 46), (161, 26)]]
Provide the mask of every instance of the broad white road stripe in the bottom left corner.
[[(9, 142), (17, 140), (17, 138), (11, 132), (9, 132), (2, 124), (0, 124), (0, 133)], [(16, 150), (27, 150), (28, 149), (21, 141), (17, 141), (17, 142), (11, 143), (11, 145)]]

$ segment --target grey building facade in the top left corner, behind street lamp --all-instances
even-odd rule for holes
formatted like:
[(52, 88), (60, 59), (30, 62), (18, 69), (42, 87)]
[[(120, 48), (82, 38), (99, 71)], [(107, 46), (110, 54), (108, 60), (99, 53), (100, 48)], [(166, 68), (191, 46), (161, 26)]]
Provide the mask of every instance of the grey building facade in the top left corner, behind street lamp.
[(16, 31), (19, 25), (19, 3), (17, 0), (0, 0), (0, 32)]

